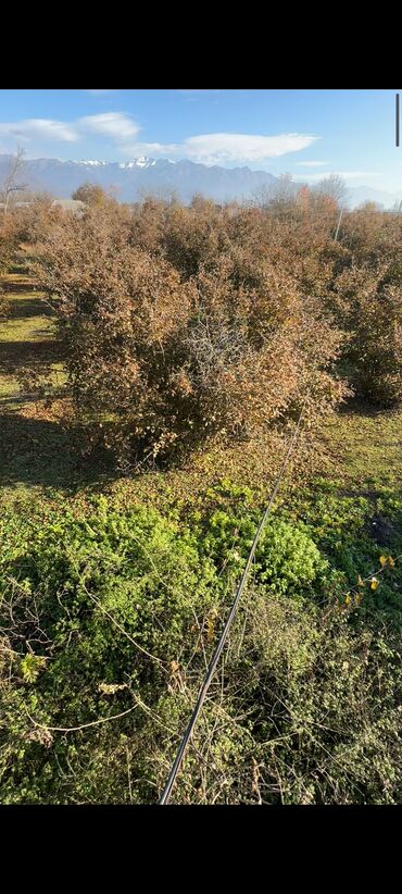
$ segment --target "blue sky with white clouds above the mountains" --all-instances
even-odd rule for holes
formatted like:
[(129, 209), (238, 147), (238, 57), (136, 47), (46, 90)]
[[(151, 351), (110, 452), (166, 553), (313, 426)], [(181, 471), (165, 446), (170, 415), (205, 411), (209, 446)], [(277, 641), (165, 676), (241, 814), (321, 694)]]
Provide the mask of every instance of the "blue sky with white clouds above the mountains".
[(0, 152), (248, 165), (401, 191), (397, 90), (0, 90)]

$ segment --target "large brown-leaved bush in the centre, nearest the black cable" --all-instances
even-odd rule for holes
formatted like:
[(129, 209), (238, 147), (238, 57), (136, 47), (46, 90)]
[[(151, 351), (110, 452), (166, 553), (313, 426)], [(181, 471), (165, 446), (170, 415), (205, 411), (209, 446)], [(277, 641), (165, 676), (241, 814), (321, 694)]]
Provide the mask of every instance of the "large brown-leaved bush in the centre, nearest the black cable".
[(50, 229), (40, 277), (77, 411), (126, 456), (248, 438), (305, 397), (314, 418), (346, 394), (331, 369), (340, 331), (269, 225), (261, 250), (260, 228), (261, 214), (199, 200), (146, 202), (131, 218), (110, 204)]

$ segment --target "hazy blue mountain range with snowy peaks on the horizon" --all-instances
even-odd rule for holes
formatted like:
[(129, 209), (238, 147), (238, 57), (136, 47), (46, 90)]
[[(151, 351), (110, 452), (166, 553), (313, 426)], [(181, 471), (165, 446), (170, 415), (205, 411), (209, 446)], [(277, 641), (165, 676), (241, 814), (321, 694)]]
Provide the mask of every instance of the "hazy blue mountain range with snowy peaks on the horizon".
[[(0, 187), (9, 166), (10, 156), (0, 154)], [(323, 174), (323, 177), (325, 175)], [(60, 161), (58, 159), (30, 159), (25, 161), (21, 178), (32, 190), (47, 190), (55, 198), (70, 198), (84, 182), (98, 183), (112, 188), (120, 201), (136, 201), (141, 195), (174, 193), (183, 202), (189, 202), (197, 193), (217, 202), (250, 199), (262, 187), (275, 193), (279, 178), (266, 171), (250, 167), (208, 166), (192, 161), (171, 161), (140, 157), (127, 162), (99, 160)], [(292, 183), (297, 191), (303, 184)], [(376, 201), (392, 208), (402, 199), (372, 187), (357, 186), (349, 189), (349, 206), (355, 208), (364, 201)]]

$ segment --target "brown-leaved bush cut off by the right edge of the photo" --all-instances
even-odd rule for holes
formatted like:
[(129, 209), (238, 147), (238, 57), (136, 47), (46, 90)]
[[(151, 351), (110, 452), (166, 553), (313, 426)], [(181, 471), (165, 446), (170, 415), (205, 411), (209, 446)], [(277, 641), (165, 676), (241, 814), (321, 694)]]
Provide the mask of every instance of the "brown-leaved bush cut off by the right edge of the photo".
[(344, 222), (346, 259), (332, 310), (349, 333), (344, 371), (357, 395), (379, 407), (402, 399), (402, 220), (361, 211)]

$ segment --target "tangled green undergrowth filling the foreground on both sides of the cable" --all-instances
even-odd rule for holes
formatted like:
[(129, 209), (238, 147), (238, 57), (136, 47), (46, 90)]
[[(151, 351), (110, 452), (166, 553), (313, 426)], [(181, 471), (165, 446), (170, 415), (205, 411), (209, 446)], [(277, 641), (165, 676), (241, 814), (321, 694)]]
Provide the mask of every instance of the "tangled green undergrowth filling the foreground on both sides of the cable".
[[(370, 511), (323, 482), (269, 520), (174, 800), (400, 802), (398, 567), (344, 599), (380, 567)], [(105, 498), (3, 514), (2, 803), (156, 800), (257, 521), (230, 482), (186, 524)]]

